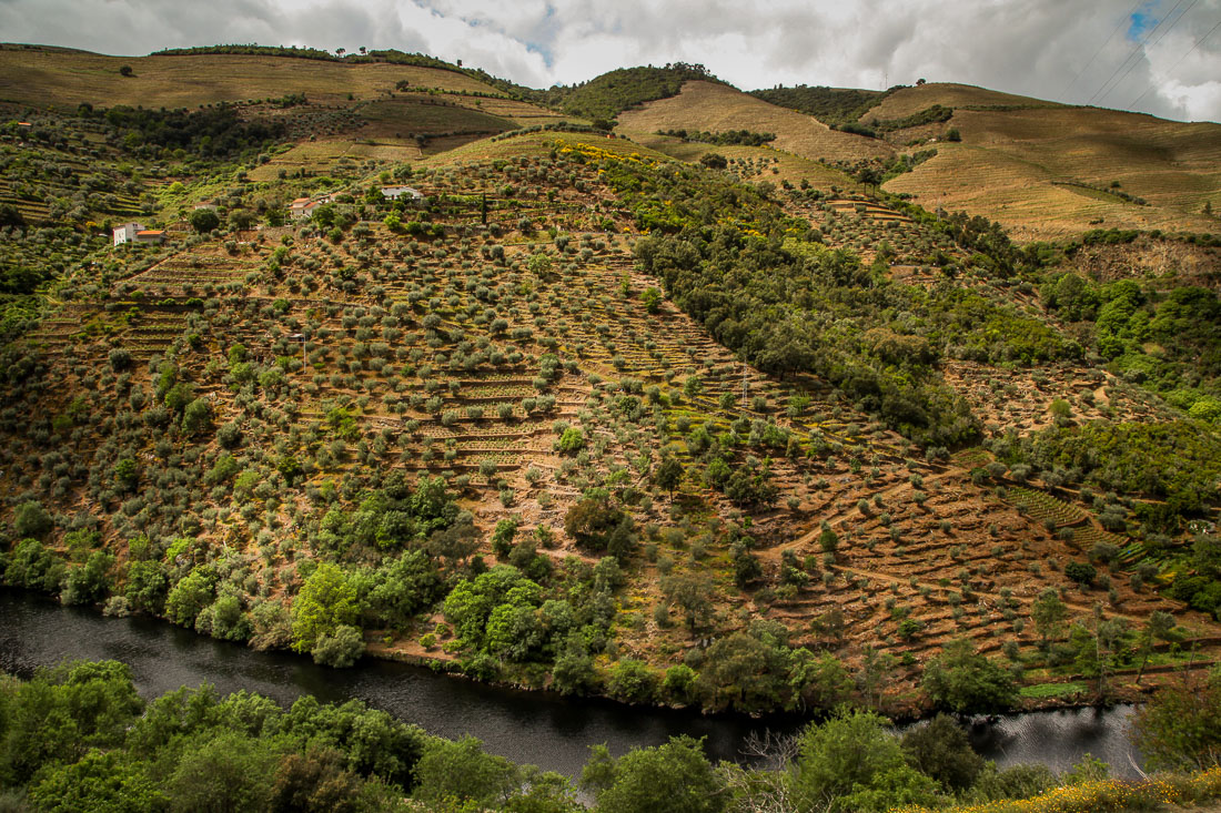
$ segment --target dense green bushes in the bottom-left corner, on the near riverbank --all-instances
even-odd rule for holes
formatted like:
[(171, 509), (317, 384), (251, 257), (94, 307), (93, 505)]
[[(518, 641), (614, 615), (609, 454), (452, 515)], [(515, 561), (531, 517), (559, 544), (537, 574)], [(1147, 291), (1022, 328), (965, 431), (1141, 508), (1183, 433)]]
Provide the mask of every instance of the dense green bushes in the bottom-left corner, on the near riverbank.
[(398, 809), (430, 747), (353, 701), (288, 710), (181, 688), (145, 704), (117, 662), (0, 684), (0, 781), (37, 811)]

